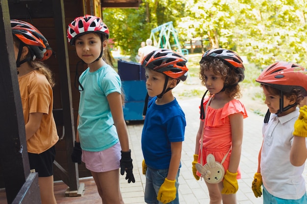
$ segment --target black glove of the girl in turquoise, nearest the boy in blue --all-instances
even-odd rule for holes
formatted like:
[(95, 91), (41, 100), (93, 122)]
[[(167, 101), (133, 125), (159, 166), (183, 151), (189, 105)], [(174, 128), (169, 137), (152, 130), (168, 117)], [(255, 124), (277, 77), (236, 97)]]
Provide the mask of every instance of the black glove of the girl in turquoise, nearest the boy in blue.
[(121, 175), (124, 175), (125, 171), (127, 173), (126, 175), (126, 180), (128, 180), (128, 183), (132, 181), (132, 183), (135, 182), (134, 176), (132, 173), (133, 165), (132, 165), (132, 159), (131, 159), (131, 150), (128, 152), (123, 152), (122, 153), (122, 159), (120, 160), (121, 163)]

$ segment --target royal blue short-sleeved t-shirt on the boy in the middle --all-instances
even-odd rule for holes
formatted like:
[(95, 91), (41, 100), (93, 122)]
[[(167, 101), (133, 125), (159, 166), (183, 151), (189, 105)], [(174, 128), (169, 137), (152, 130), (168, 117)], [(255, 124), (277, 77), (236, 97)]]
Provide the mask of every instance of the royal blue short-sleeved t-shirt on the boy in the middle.
[(148, 103), (142, 132), (142, 151), (146, 165), (153, 169), (168, 169), (171, 142), (182, 142), (186, 126), (185, 115), (177, 100), (164, 105)]

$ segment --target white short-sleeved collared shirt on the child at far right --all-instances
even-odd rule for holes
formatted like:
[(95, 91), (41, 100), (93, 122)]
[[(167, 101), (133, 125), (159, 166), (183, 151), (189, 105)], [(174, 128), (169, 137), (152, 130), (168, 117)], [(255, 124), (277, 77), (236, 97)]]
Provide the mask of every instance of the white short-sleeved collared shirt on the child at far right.
[(271, 114), (262, 128), (260, 169), (263, 185), (273, 196), (287, 200), (300, 199), (306, 192), (302, 176), (305, 164), (296, 167), (290, 162), (292, 133), (298, 116), (299, 108), (281, 117)]

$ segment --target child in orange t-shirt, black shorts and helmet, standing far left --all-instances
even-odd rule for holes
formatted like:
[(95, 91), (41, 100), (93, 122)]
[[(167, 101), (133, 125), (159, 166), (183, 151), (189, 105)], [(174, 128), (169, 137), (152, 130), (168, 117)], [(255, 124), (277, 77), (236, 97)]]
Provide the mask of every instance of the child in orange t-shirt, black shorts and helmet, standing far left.
[(52, 51), (46, 38), (30, 23), (11, 20), (11, 27), (30, 169), (38, 172), (42, 204), (56, 204), (53, 161), (59, 137), (52, 114), (54, 81), (50, 69), (41, 62)]

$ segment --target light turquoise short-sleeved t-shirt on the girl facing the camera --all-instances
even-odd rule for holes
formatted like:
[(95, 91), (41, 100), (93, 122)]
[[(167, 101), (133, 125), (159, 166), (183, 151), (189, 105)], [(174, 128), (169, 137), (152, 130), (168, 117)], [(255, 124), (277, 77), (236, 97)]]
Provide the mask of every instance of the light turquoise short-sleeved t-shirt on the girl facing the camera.
[(81, 148), (99, 152), (112, 147), (119, 139), (106, 96), (121, 93), (121, 79), (109, 65), (95, 72), (87, 68), (79, 77), (80, 91), (78, 133)]

